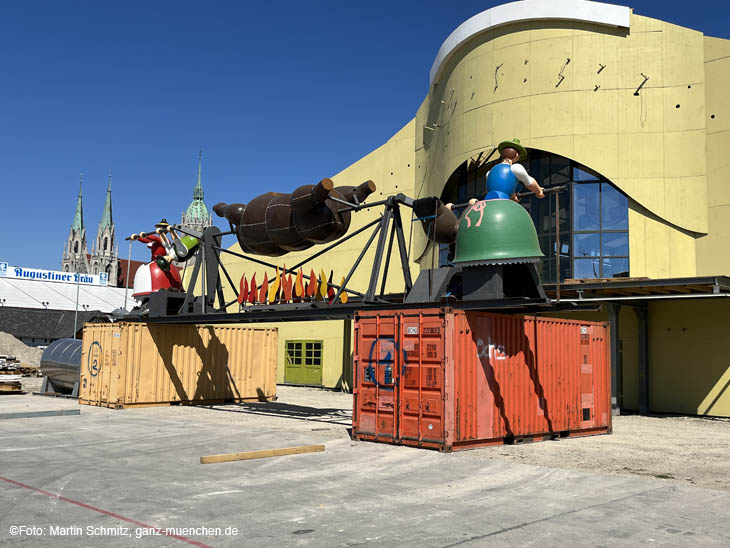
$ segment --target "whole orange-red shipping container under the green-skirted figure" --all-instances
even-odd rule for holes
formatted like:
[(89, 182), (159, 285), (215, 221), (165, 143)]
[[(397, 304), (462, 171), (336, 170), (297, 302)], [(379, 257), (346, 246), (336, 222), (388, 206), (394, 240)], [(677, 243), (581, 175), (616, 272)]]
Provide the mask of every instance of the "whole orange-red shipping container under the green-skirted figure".
[(357, 439), (448, 451), (611, 431), (604, 323), (365, 312), (355, 342)]

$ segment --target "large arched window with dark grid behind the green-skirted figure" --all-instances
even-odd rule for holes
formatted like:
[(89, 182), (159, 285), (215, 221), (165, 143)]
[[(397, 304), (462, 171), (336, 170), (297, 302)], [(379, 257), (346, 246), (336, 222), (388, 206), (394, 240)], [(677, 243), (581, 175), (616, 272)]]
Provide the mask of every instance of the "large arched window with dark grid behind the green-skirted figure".
[[(487, 171), (495, 163), (462, 164), (449, 179), (441, 199), (464, 203), (469, 198), (482, 198)], [(542, 200), (530, 196), (521, 202), (532, 216), (545, 254), (542, 280), (555, 281), (557, 253), (560, 253), (561, 280), (628, 276), (626, 196), (605, 178), (562, 156), (530, 151), (524, 165), (541, 186), (562, 187), (557, 192), (557, 200), (555, 194), (549, 194)], [(448, 263), (452, 253), (453, 249), (442, 246), (441, 264)]]

